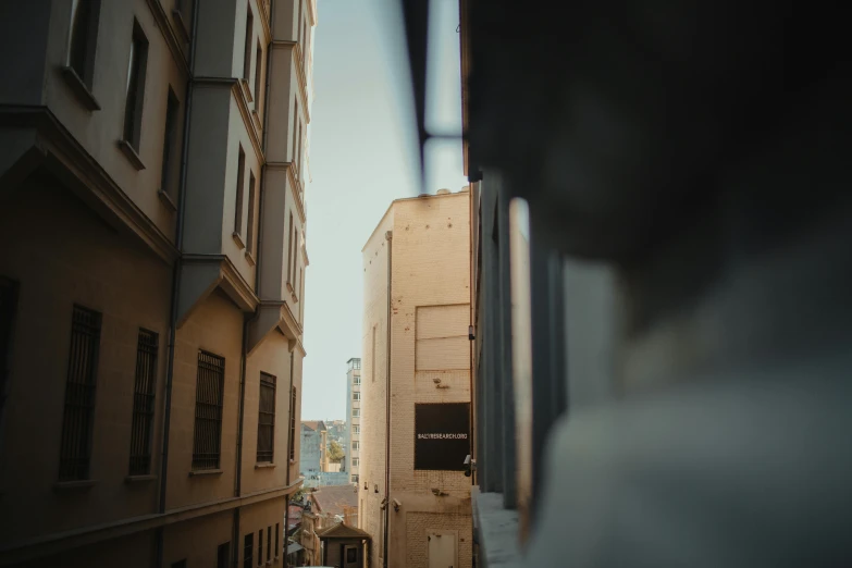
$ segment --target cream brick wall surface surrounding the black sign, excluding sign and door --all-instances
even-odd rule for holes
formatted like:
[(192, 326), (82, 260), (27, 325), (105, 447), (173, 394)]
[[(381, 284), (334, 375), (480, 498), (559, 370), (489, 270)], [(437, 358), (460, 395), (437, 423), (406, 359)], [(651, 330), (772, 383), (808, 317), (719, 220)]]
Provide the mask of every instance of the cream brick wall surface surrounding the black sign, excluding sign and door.
[[(363, 250), (367, 362), (361, 374), (361, 479), (368, 481), (369, 491), (363, 491), (361, 483), (365, 510), (360, 526), (373, 535), (375, 553), (371, 566), (378, 568), (386, 399), (384, 369), (381, 374), (376, 372), (376, 382), (372, 382), (370, 366), (372, 325), (384, 322), (387, 308), (386, 244), (383, 246), (379, 238), (383, 240), (384, 231), (392, 227), (391, 498), (400, 502), (400, 507), (390, 513), (388, 565), (427, 566), (427, 531), (458, 530), (458, 565), (467, 567), (472, 561), (470, 479), (460, 471), (413, 470), (413, 418), (416, 403), (470, 402), (469, 196), (397, 200), (383, 225)], [(381, 331), (381, 335), (376, 334), (376, 351), (381, 354), (376, 363), (383, 366), (386, 329)], [(434, 379), (440, 379), (445, 387), (437, 388)], [(378, 494), (373, 492), (374, 483), (379, 484)], [(433, 487), (446, 495), (433, 495)]]

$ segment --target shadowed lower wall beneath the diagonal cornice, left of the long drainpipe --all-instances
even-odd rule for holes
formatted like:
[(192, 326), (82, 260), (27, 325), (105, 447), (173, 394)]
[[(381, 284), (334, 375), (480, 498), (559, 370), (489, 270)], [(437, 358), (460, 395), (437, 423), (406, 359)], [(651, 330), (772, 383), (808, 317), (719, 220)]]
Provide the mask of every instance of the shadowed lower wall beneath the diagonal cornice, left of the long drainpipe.
[[(44, 226), (50, 231), (34, 231)], [(4, 198), (0, 242), (15, 245), (0, 247), (0, 274), (20, 283), (0, 459), (0, 510), (14, 515), (0, 515), (0, 542), (152, 513), (157, 482), (128, 484), (125, 477), (139, 328), (159, 334), (162, 399), (171, 269), (50, 178), (30, 180)], [(58, 492), (74, 304), (103, 314), (90, 466), (96, 482)], [(157, 405), (155, 440), (161, 410)], [(157, 473), (159, 446), (152, 458)]]

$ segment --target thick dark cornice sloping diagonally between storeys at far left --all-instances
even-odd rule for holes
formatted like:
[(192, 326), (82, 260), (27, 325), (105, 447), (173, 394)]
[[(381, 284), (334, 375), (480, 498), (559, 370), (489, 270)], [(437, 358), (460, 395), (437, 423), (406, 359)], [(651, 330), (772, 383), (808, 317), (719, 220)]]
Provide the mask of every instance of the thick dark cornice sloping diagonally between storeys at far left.
[(145, 214), (100, 163), (69, 132), (47, 107), (0, 106), (0, 126), (36, 131), (33, 159), (26, 152), (29, 168), (45, 166), (62, 180), (84, 202), (95, 205), (98, 213), (118, 221), (129, 230), (158, 257), (172, 263), (178, 256), (172, 240)]

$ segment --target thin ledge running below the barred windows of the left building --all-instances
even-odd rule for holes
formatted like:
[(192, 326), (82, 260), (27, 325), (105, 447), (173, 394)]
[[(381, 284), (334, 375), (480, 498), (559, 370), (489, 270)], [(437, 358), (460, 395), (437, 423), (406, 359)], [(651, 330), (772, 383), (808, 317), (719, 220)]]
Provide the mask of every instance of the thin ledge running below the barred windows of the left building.
[(116, 539), (119, 536), (126, 536), (128, 534), (232, 510), (237, 507), (245, 507), (264, 501), (286, 497), (298, 491), (299, 486), (301, 486), (301, 480), (297, 480), (289, 485), (266, 489), (238, 497), (227, 497), (199, 505), (171, 509), (162, 514), (143, 515), (129, 519), (121, 519), (29, 539), (10, 546), (0, 547), (0, 566), (15, 565), (48, 555), (59, 554), (71, 548)]

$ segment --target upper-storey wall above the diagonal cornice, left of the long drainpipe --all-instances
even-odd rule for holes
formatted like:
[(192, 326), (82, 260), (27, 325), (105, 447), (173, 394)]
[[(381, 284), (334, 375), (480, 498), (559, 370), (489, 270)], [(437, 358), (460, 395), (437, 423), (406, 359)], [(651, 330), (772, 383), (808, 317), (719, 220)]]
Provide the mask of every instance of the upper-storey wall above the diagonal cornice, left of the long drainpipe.
[[(91, 94), (101, 109), (83, 108), (62, 76), (67, 60), (71, 2), (52, 2), (47, 52), (45, 99), (50, 110), (69, 128), (86, 151), (107, 171), (157, 227), (174, 238), (176, 215), (157, 195), (160, 188), (162, 143), (169, 88), (186, 101), (186, 67), (170, 51), (146, 0), (101, 2), (98, 49)], [(127, 61), (134, 18), (148, 40), (145, 75), (145, 106), (138, 155), (145, 170), (137, 170), (118, 147), (124, 125)], [(177, 146), (180, 148), (180, 134)], [(177, 171), (175, 169), (176, 177)]]

